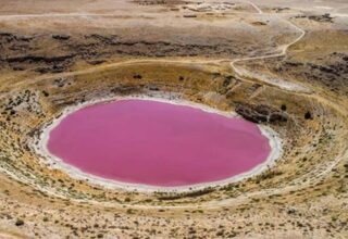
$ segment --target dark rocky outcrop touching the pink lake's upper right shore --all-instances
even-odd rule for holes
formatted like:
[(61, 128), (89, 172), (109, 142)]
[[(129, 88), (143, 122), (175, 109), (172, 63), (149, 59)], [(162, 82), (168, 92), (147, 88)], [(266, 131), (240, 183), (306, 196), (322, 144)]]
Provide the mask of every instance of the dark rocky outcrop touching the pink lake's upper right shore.
[(287, 121), (284, 112), (265, 104), (237, 103), (235, 111), (247, 121), (253, 123), (277, 123)]

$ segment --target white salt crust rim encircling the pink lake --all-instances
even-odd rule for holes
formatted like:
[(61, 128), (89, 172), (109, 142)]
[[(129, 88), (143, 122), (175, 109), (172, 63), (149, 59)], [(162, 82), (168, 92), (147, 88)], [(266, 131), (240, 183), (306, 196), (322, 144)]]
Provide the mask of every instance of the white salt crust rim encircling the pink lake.
[(153, 93), (151, 95), (152, 96), (134, 95), (128, 97), (104, 98), (104, 99), (92, 100), (92, 101), (79, 103), (74, 106), (66, 108), (59, 117), (54, 118), (53, 121), (51, 121), (50, 123), (44, 126), (42, 134), (34, 142), (34, 149), (37, 154), (41, 155), (40, 160), (42, 160), (42, 163), (48, 164), (48, 166), (51, 168), (59, 169), (66, 173), (69, 176), (71, 176), (74, 179), (86, 180), (91, 185), (99, 185), (108, 189), (119, 189), (119, 190), (140, 191), (140, 192), (187, 192), (187, 191), (194, 191), (194, 190), (201, 190), (209, 187), (225, 186), (231, 183), (240, 181), (243, 179), (246, 179), (262, 173), (263, 171), (272, 167), (275, 161), (279, 159), (281, 155), (283, 154), (282, 140), (278, 137), (277, 133), (275, 133), (269, 126), (258, 125), (258, 127), (261, 130), (261, 134), (269, 139), (271, 152), (268, 159), (263, 163), (257, 165), (251, 171), (235, 175), (233, 177), (229, 177), (223, 180), (216, 180), (211, 183), (202, 183), (202, 184), (178, 186), (178, 187), (160, 187), (160, 186), (123, 183), (123, 181), (107, 179), (107, 178), (102, 178), (96, 175), (85, 173), (79, 168), (63, 162), (60, 158), (52, 155), (47, 149), (50, 131), (55, 126), (58, 126), (64, 117), (66, 117), (72, 112), (83, 109), (87, 105), (105, 103), (110, 101), (132, 100), (132, 99), (152, 100), (158, 102), (191, 106), (195, 109), (203, 110), (209, 113), (215, 113), (215, 114), (224, 115), (227, 117), (239, 117), (235, 112), (220, 111), (220, 110), (207, 106), (204, 104), (179, 99), (178, 95), (172, 95), (172, 93), (157, 93), (156, 96)]

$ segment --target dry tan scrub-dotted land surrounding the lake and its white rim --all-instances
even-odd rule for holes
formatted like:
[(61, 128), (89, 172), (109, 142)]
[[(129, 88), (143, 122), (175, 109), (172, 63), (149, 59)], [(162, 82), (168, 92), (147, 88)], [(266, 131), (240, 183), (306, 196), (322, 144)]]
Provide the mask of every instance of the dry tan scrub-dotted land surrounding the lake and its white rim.
[[(347, 238), (348, 7), (0, 0), (0, 238)], [(283, 155), (186, 192), (108, 189), (35, 150), (67, 106), (171, 96), (266, 125)]]

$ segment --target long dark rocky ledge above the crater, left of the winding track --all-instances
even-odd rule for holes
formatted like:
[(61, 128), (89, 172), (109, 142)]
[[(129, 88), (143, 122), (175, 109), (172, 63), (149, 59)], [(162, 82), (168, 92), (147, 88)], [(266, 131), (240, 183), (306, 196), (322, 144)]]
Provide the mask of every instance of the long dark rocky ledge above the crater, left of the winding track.
[[(49, 47), (48, 47), (49, 46)], [(48, 47), (48, 48), (46, 48)], [(44, 50), (46, 49), (46, 50)], [(49, 49), (49, 50), (47, 50)], [(115, 56), (232, 56), (238, 53), (234, 42), (225, 39), (186, 41), (130, 39), (116, 34), (26, 35), (0, 30), (0, 70), (35, 71), (40, 74), (61, 73), (84, 61), (101, 64)]]

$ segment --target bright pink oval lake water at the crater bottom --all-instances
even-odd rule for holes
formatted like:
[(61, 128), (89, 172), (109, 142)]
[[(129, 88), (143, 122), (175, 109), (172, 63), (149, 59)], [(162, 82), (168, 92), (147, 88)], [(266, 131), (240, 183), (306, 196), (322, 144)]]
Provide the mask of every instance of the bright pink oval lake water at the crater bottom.
[(174, 187), (248, 172), (270, 153), (250, 122), (150, 100), (90, 105), (50, 131), (48, 150), (85, 173)]

